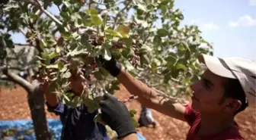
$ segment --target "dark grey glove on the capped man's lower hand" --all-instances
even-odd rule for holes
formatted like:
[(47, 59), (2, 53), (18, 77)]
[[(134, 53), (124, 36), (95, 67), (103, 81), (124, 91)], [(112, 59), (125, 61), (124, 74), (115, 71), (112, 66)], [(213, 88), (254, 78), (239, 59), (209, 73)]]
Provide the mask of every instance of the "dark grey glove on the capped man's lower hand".
[(100, 101), (101, 119), (107, 123), (111, 129), (117, 132), (117, 138), (123, 138), (131, 133), (136, 133), (135, 126), (130, 117), (130, 112), (117, 98), (106, 93), (104, 99)]

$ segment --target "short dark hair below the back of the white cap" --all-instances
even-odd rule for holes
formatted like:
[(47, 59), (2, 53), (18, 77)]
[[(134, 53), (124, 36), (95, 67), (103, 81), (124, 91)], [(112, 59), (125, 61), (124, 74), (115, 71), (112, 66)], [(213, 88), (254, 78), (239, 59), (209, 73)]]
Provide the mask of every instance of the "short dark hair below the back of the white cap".
[(242, 102), (241, 107), (235, 111), (235, 114), (238, 114), (242, 110), (245, 110), (246, 107), (248, 107), (248, 101), (246, 99), (245, 92), (242, 89), (242, 86), (238, 79), (225, 79), (224, 96), (226, 98), (235, 98)]

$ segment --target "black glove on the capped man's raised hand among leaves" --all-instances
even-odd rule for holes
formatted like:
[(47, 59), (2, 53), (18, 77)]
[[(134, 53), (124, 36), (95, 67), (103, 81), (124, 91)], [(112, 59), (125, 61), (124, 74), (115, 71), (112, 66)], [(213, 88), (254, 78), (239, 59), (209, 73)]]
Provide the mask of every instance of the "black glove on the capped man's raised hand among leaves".
[(112, 76), (118, 76), (118, 74), (121, 71), (121, 65), (114, 59), (110, 59), (110, 61), (106, 61), (102, 56), (99, 56), (102, 67), (104, 67), (105, 70), (107, 70)]

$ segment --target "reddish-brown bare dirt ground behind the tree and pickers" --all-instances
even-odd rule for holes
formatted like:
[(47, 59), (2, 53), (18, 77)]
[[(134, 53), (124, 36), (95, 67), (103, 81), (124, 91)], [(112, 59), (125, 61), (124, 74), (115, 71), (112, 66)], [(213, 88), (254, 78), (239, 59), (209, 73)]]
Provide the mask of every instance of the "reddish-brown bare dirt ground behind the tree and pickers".
[[(129, 96), (129, 93), (123, 87), (116, 93), (117, 98), (123, 99)], [(130, 109), (140, 110), (140, 104), (137, 101), (126, 103)], [(2, 89), (0, 92), (0, 120), (19, 120), (30, 119), (30, 111), (27, 104), (27, 93), (22, 88)], [(159, 126), (153, 128), (140, 128), (139, 132), (147, 140), (182, 140), (185, 138), (189, 129), (187, 123), (166, 117), (153, 110), (153, 116), (158, 121)], [(136, 118), (139, 114), (136, 115)], [(58, 118), (54, 114), (47, 113), (47, 118)], [(239, 114), (235, 120), (240, 125), (240, 132), (247, 140), (256, 138), (256, 106), (249, 107), (242, 114)]]

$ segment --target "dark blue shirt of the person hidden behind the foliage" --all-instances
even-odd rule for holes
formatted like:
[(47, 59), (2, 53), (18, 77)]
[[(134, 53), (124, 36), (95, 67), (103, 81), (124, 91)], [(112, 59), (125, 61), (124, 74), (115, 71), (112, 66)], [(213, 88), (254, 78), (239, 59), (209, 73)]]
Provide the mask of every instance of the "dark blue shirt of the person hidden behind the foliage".
[(63, 125), (62, 140), (110, 140), (106, 128), (100, 123), (94, 123), (98, 110), (89, 113), (84, 104), (75, 108), (62, 103), (56, 107), (46, 105), (48, 111), (60, 117)]

